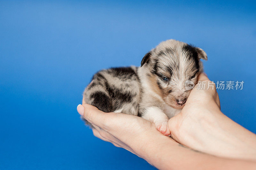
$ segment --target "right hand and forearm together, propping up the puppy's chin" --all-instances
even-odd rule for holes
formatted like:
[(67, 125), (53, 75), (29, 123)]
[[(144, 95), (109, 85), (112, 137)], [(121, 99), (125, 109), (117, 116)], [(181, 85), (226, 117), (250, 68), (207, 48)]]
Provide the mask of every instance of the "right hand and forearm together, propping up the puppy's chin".
[(255, 159), (256, 135), (220, 111), (215, 85), (208, 88), (214, 83), (204, 73), (198, 81), (204, 82), (205, 88), (198, 89), (197, 84), (180, 114), (168, 122), (172, 138), (189, 148), (216, 156)]

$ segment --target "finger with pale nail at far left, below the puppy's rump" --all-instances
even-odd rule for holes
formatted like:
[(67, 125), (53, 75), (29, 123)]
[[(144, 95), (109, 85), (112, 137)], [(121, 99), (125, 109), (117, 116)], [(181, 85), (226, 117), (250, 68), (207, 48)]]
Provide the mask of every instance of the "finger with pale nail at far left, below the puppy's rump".
[[(108, 119), (105, 115), (105, 112), (100, 111), (97, 107), (94, 107), (90, 104), (79, 104), (77, 106), (77, 112), (81, 114), (85, 120), (88, 122), (100, 127), (105, 127), (105, 122), (107, 122), (106, 119)], [(108, 117), (111, 116), (108, 114)]]

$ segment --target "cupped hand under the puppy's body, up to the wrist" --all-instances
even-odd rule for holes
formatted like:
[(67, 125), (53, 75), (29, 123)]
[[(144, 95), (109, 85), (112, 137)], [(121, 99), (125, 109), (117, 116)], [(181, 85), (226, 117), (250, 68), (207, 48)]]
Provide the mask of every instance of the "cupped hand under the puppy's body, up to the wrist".
[(141, 155), (143, 145), (150, 142), (150, 138), (157, 135), (164, 136), (154, 124), (137, 116), (114, 112), (105, 113), (85, 103), (79, 104), (77, 111), (92, 124), (94, 127), (92, 131), (96, 137), (138, 156)]

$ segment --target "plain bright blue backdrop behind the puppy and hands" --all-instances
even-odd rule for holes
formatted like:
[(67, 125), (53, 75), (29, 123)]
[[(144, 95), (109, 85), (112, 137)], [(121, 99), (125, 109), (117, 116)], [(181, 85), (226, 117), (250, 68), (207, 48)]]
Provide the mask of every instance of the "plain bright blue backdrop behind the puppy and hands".
[(221, 110), (256, 132), (255, 1), (1, 1), (0, 169), (154, 169), (94, 137), (77, 104), (96, 71), (140, 65), (161, 41), (204, 49)]

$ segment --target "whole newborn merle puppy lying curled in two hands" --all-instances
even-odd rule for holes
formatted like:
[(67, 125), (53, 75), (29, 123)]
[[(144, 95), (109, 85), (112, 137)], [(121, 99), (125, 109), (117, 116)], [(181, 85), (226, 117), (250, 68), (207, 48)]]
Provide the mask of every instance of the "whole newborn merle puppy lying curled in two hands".
[(170, 135), (168, 120), (181, 111), (191, 91), (185, 88), (186, 81), (196, 84), (203, 71), (200, 58), (207, 60), (200, 48), (176, 40), (164, 41), (143, 57), (141, 67), (96, 73), (84, 90), (84, 102), (103, 112), (140, 116)]

